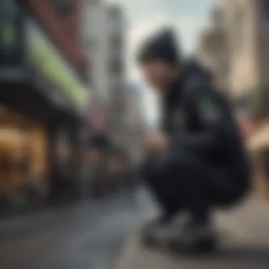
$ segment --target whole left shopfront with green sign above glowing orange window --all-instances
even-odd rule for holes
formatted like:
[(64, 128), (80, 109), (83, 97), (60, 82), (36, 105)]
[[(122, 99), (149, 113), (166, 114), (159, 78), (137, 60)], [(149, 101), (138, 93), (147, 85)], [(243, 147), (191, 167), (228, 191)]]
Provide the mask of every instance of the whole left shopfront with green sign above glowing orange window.
[[(6, 167), (0, 193), (3, 189), (14, 196), (21, 192), (22, 185), (31, 184), (39, 188), (43, 200), (57, 200), (64, 170), (69, 167), (74, 196), (78, 198), (88, 89), (33, 18), (12, 8), (12, 4), (0, 4), (0, 11), (6, 14), (0, 21), (3, 173)], [(16, 168), (20, 162), (24, 167), (21, 174)], [(11, 185), (15, 186), (13, 190)]]

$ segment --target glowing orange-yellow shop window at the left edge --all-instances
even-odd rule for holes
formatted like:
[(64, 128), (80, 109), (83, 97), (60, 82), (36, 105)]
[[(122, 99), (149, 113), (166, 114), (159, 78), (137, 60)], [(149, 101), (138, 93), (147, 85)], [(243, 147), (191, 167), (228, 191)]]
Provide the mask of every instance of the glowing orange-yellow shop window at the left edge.
[(0, 120), (0, 194), (9, 200), (35, 185), (37, 195), (45, 198), (45, 130), (3, 106)]

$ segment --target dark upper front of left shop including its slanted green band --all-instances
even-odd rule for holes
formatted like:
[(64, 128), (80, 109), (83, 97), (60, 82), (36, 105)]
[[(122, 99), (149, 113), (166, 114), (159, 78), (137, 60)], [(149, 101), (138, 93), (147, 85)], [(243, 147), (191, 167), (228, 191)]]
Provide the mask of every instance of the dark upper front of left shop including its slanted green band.
[(4, 3), (0, 4), (4, 14), (0, 19), (1, 84), (37, 86), (56, 107), (84, 113), (88, 84), (33, 18), (16, 8), (14, 1)]

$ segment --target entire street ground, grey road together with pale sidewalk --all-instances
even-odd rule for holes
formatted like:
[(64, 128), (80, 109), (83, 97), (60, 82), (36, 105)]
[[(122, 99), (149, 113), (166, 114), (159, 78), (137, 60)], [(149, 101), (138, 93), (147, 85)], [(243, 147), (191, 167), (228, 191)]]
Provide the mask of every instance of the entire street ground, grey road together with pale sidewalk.
[[(269, 266), (268, 204), (254, 198), (217, 212), (223, 236), (211, 256), (186, 258), (141, 248), (137, 227), (155, 214), (149, 194), (31, 213), (0, 222), (2, 269), (261, 268)], [(202, 267), (201, 267), (202, 266)]]

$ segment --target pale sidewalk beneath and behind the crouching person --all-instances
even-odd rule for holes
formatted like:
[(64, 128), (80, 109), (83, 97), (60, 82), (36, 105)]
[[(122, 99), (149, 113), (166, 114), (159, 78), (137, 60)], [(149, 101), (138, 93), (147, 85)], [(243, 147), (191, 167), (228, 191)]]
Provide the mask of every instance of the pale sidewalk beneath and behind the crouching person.
[(113, 269), (269, 268), (269, 203), (249, 199), (232, 212), (217, 212), (216, 219), (225, 236), (214, 255), (187, 258), (145, 250), (135, 232)]

